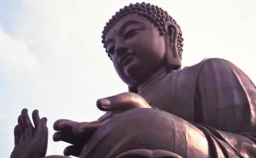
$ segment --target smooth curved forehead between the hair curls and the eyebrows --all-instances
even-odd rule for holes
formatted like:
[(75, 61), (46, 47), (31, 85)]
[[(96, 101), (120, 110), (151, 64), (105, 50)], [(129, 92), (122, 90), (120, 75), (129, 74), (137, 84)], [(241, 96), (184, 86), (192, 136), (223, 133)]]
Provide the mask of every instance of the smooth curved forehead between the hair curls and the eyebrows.
[(115, 25), (112, 26), (111, 29), (109, 29), (109, 31), (106, 33), (106, 38), (105, 41), (109, 38), (111, 38), (113, 35), (115, 35), (116, 33), (120, 32), (120, 29), (123, 28), (123, 25), (129, 25), (129, 24), (134, 24), (136, 22), (141, 22), (145, 25), (151, 25), (150, 20), (148, 20), (147, 18), (141, 16), (141, 15), (137, 15), (137, 14), (130, 14), (130, 15), (126, 15), (123, 18), (120, 18), (120, 20), (118, 22), (116, 22)]

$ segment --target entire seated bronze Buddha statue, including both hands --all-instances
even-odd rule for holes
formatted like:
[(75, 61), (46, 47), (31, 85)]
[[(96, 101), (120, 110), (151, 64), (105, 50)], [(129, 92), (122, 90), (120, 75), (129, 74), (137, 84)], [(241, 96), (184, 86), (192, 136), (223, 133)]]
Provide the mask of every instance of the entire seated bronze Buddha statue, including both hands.
[[(156, 5), (125, 6), (106, 23), (103, 44), (130, 92), (99, 99), (95, 122), (54, 124), (66, 156), (256, 157), (256, 88), (234, 64), (181, 66), (180, 26)], [(46, 119), (22, 110), (11, 157), (43, 157)], [(45, 157), (66, 157), (45, 156)]]

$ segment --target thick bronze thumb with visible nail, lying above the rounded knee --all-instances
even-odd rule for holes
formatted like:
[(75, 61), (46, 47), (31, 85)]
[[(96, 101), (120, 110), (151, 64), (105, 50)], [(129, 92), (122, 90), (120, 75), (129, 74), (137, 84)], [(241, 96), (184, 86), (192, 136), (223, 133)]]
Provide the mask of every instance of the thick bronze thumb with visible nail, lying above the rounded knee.
[(116, 96), (98, 99), (96, 105), (98, 109), (103, 111), (126, 111), (128, 109), (151, 108), (143, 97), (133, 92), (123, 92)]

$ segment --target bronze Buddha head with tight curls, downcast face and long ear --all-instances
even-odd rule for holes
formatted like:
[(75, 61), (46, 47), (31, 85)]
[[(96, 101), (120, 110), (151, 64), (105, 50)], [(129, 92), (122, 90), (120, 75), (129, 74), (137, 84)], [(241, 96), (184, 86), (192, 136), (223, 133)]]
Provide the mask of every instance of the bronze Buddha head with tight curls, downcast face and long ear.
[[(143, 82), (161, 67), (169, 71), (180, 69), (183, 51), (180, 26), (157, 5), (143, 2), (121, 8), (106, 22), (102, 38), (116, 72), (128, 86)], [(138, 62), (140, 66), (130, 62)]]

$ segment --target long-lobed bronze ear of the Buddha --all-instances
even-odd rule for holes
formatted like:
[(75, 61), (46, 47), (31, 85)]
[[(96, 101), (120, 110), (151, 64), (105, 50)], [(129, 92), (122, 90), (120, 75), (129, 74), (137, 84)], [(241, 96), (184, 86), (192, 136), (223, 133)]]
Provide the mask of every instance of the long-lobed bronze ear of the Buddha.
[(167, 32), (166, 36), (166, 58), (167, 67), (171, 70), (177, 70), (181, 67), (180, 55), (177, 49), (177, 39), (179, 35), (179, 29), (174, 22), (167, 21), (163, 24), (163, 29)]

